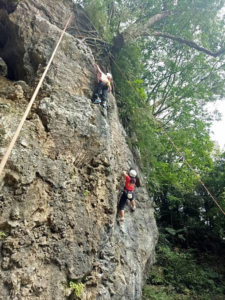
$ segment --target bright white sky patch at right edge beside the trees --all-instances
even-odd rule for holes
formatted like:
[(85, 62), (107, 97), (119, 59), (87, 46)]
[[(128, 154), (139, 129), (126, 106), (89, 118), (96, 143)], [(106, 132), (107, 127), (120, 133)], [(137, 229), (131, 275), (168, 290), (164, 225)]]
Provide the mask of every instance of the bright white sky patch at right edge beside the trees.
[(224, 148), (225, 145), (225, 99), (217, 100), (215, 104), (208, 105), (208, 110), (214, 110), (217, 108), (222, 114), (220, 121), (213, 121), (210, 127), (211, 129), (211, 139), (217, 141), (220, 149)]

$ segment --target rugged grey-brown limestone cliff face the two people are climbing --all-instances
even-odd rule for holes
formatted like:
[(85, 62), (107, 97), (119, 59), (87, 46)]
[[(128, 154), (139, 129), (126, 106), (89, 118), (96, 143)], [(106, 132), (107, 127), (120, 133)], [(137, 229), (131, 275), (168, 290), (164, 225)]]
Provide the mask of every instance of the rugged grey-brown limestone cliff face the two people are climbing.
[[(0, 156), (73, 1), (5, 5), (0, 56), (19, 81), (0, 77)], [(66, 33), (0, 178), (0, 299), (74, 299), (70, 280), (84, 284), (83, 300), (141, 297), (157, 241), (152, 203), (114, 97), (107, 112), (91, 103), (95, 84), (90, 49)], [(120, 226), (121, 171), (131, 165), (137, 209), (127, 203)]]

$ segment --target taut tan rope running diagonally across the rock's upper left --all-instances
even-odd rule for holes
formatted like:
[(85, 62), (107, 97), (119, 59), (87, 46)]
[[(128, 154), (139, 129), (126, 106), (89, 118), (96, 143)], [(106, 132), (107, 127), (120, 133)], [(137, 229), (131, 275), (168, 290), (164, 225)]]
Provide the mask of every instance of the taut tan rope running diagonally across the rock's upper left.
[(51, 55), (51, 57), (50, 57), (50, 59), (48, 61), (48, 64), (47, 64), (47, 66), (46, 66), (46, 68), (45, 68), (45, 70), (44, 70), (44, 72), (43, 72), (43, 74), (42, 74), (42, 76), (41, 76), (38, 84), (37, 84), (37, 87), (35, 88), (35, 91), (34, 91), (32, 97), (31, 97), (31, 99), (29, 101), (29, 104), (27, 105), (26, 110), (25, 110), (25, 112), (24, 112), (24, 114), (23, 114), (23, 116), (22, 116), (22, 118), (21, 118), (21, 120), (20, 120), (20, 122), (19, 122), (19, 124), (18, 124), (18, 126), (16, 128), (16, 131), (15, 131), (15, 133), (14, 133), (14, 135), (13, 135), (13, 137), (12, 137), (12, 139), (11, 139), (11, 141), (10, 141), (10, 143), (9, 143), (9, 145), (8, 145), (5, 153), (4, 153), (4, 156), (1, 159), (1, 162), (0, 162), (0, 175), (1, 175), (2, 171), (3, 171), (5, 163), (7, 162), (8, 156), (10, 155), (11, 150), (12, 150), (12, 148), (13, 148), (13, 146), (14, 146), (17, 138), (18, 138), (18, 135), (19, 135), (19, 133), (20, 133), (20, 131), (22, 129), (22, 126), (23, 126), (23, 124), (25, 122), (25, 119), (26, 119), (26, 117), (27, 117), (27, 115), (28, 115), (28, 113), (29, 113), (29, 111), (31, 109), (31, 106), (32, 106), (32, 104), (33, 104), (33, 102), (35, 100), (35, 97), (36, 97), (36, 95), (37, 95), (37, 93), (38, 93), (38, 91), (40, 89), (40, 86), (41, 86), (41, 84), (43, 82), (43, 79), (44, 79), (44, 77), (45, 77), (45, 75), (46, 75), (46, 73), (48, 71), (48, 68), (49, 68), (51, 62), (52, 62), (52, 59), (54, 58), (55, 52), (56, 52), (56, 50), (57, 50), (57, 48), (58, 48), (58, 46), (60, 44), (62, 36), (65, 33), (65, 29), (68, 26), (68, 23), (70, 22), (71, 17), (72, 17), (72, 15), (70, 15), (70, 17), (69, 17), (69, 19), (68, 19), (68, 21), (67, 21), (67, 23), (66, 23), (66, 25), (65, 25), (65, 27), (64, 27), (64, 29), (62, 31), (62, 33), (61, 33), (61, 36), (60, 36), (60, 38), (59, 38), (59, 40), (58, 40), (58, 42), (57, 42), (57, 44), (56, 44), (56, 46), (54, 48), (54, 51), (53, 51), (53, 53), (52, 53), (52, 55)]

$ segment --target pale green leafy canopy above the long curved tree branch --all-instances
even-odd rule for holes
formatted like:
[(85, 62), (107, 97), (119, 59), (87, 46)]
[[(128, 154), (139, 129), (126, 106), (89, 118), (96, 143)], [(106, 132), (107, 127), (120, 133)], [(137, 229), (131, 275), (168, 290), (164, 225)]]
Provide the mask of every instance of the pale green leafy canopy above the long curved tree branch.
[(192, 2), (186, 0), (80, 0), (79, 2), (101, 32), (110, 32), (115, 35), (123, 32), (135, 22), (141, 21), (141, 25), (144, 24), (150, 16), (166, 9), (171, 12), (170, 16), (158, 21), (154, 29), (198, 40), (200, 44), (213, 50), (222, 48), (224, 20), (218, 11), (224, 5), (223, 0)]

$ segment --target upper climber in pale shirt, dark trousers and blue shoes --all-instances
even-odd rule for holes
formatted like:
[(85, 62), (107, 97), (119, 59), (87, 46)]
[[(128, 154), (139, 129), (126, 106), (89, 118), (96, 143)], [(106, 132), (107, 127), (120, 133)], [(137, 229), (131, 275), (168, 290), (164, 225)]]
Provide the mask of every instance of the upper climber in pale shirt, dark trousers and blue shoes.
[(99, 74), (99, 82), (97, 83), (97, 86), (95, 87), (95, 90), (94, 90), (94, 104), (97, 104), (97, 103), (100, 103), (101, 100), (99, 98), (99, 93), (101, 91), (102, 93), (102, 99), (104, 101), (104, 103), (106, 102), (106, 99), (107, 99), (107, 92), (111, 91), (111, 74), (110, 73), (103, 73), (102, 70), (99, 68), (99, 66), (94, 63), (96, 69), (97, 69), (97, 72)]

